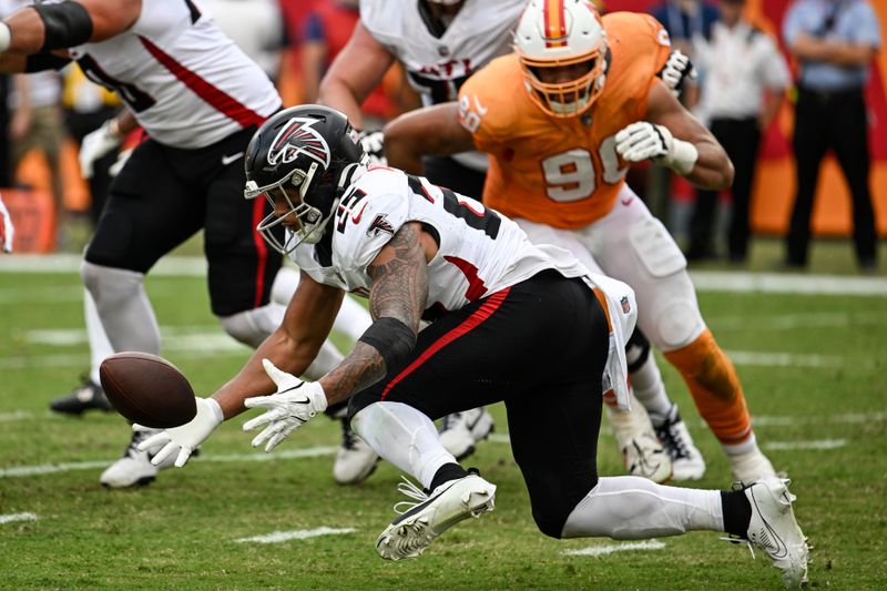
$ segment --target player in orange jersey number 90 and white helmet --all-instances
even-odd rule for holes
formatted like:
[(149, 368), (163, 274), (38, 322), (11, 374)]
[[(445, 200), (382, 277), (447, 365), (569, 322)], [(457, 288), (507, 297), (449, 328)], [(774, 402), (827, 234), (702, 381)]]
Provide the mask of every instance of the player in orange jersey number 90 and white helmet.
[[(531, 0), (514, 50), (462, 84), (458, 103), (391, 122), (389, 161), (420, 174), (421, 154), (487, 152), (485, 203), (532, 242), (563, 246), (631, 285), (640, 328), (681, 371), (733, 478), (774, 475), (680, 248), (624, 182), (628, 166), (648, 159), (706, 188), (732, 182), (724, 150), (655, 77), (671, 50), (667, 33), (644, 14), (601, 19), (587, 0)], [(651, 418), (665, 440), (680, 421), (667, 403)]]

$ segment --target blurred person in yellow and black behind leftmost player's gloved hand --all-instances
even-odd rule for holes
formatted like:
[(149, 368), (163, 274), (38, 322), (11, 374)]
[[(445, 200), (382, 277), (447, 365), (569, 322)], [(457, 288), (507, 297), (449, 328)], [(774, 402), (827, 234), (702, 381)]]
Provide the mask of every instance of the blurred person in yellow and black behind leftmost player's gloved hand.
[[(77, 64), (69, 65), (63, 73), (64, 122), (79, 145), (83, 142), (83, 137), (116, 114), (120, 99), (110, 90), (90, 81)], [(111, 186), (109, 169), (116, 157), (118, 151), (112, 149), (92, 163), (91, 171), (81, 171), (90, 187), (90, 220), (93, 226), (99, 222), (99, 214), (108, 196)]]

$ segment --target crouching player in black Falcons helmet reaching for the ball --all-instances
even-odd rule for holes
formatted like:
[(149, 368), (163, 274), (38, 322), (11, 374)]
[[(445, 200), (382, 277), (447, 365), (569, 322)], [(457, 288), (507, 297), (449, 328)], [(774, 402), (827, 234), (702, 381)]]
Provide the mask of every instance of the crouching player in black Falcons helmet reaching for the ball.
[[(532, 245), (472, 198), (367, 162), (345, 115), (325, 106), (288, 109), (258, 130), (245, 195), (274, 204), (258, 227), (303, 279), (279, 328), (211, 398), (196, 399), (196, 417), (142, 442), (164, 445), (153, 461), (183, 466), (245, 407), (265, 410), (244, 429), (262, 429), (253, 445), (271, 451), (350, 399), (355, 430), (419, 482), (399, 487), (415, 502), (396, 506), (404, 511), (376, 542), (379, 556), (398, 560), (493, 509), (496, 485), (458, 463), (432, 420), (502, 400), (543, 533), (726, 531), (764, 550), (787, 587), (801, 587), (807, 544), (787, 480), (718, 491), (598, 477), (604, 389), (629, 401), (624, 347), (636, 312), (628, 285), (591, 274), (568, 251)], [(328, 374), (302, 381), (295, 375), (324, 343), (345, 292), (368, 295), (374, 323)], [(432, 322), (418, 332), (422, 318)]]

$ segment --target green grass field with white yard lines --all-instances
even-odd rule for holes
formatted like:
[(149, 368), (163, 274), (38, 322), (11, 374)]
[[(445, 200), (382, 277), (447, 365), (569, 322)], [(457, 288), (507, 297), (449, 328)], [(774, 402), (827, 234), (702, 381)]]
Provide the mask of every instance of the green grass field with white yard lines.
[[(215, 324), (201, 277), (156, 275), (147, 288), (164, 356), (197, 391), (210, 393), (248, 351)], [(737, 365), (765, 451), (793, 479), (795, 510), (815, 546), (812, 585), (884, 589), (887, 298), (703, 292), (700, 300)], [(111, 415), (70, 419), (47, 409), (89, 360), (75, 273), (0, 273), (0, 310), (2, 589), (781, 587), (765, 557), (752, 560), (744, 547), (714, 533), (643, 547), (543, 537), (500, 407), (493, 409), (497, 437), (468, 462), (499, 486), (496, 511), (450, 530), (418, 560), (377, 557), (376, 537), (401, 500), (399, 475), (380, 466), (359, 487), (337, 487), (330, 468), (338, 427), (324, 418), (265, 456), (249, 447), (252, 436), (241, 431), (246, 416), (238, 417), (186, 468), (161, 472), (146, 488), (103, 490), (99, 473), (129, 440), (125, 424)], [(705, 479), (693, 486), (728, 487), (715, 439), (674, 370), (661, 367), (708, 461)], [(601, 472), (619, 473), (606, 428), (600, 448)], [(238, 541), (318, 528), (337, 532)]]

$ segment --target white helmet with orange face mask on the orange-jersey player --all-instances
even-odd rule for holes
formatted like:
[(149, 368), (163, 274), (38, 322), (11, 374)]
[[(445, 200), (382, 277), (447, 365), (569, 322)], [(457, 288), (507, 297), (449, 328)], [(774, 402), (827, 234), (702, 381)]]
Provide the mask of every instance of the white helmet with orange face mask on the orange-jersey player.
[[(550, 115), (579, 115), (603, 90), (606, 34), (589, 0), (530, 0), (514, 33), (514, 51), (530, 96)], [(551, 80), (544, 70), (577, 64), (588, 68), (572, 80), (543, 81)]]

